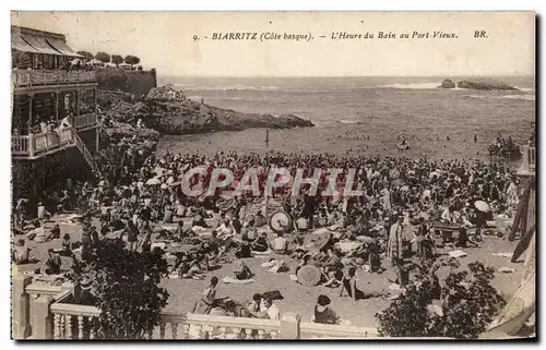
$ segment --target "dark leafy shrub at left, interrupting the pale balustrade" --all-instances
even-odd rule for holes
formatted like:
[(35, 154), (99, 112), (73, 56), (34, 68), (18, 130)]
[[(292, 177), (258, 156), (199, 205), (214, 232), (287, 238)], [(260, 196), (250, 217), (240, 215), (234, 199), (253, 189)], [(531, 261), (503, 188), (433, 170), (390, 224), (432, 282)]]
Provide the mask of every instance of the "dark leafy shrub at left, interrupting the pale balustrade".
[(144, 339), (159, 324), (169, 297), (161, 288), (167, 262), (159, 253), (132, 252), (119, 241), (105, 241), (88, 260), (74, 262), (73, 279), (92, 282), (95, 321), (102, 339)]

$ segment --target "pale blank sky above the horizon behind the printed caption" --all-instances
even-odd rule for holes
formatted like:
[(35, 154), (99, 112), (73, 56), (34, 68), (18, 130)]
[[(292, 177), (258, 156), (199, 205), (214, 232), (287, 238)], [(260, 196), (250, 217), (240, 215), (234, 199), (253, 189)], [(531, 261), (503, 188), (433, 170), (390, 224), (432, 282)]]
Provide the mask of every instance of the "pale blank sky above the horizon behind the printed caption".
[[(12, 24), (62, 33), (75, 50), (135, 55), (188, 76), (534, 75), (532, 12), (16, 12)], [(485, 31), (487, 38), (475, 38)], [(312, 35), (212, 40), (213, 33)], [(333, 33), (373, 39), (331, 39)], [(429, 33), (429, 38), (378, 38)], [(454, 39), (431, 38), (435, 32)], [(200, 39), (194, 40), (194, 36)], [(204, 38), (207, 36), (209, 38)], [(324, 36), (324, 38), (319, 38)]]

